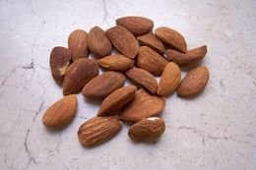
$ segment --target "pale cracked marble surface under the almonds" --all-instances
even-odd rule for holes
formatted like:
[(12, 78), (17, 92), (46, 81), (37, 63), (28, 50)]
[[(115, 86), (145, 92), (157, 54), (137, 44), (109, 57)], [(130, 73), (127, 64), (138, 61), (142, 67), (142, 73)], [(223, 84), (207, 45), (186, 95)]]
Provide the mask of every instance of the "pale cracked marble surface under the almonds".
[[(0, 0), (0, 169), (255, 170), (255, 7), (253, 0)], [(42, 114), (62, 96), (50, 75), (52, 47), (67, 46), (76, 28), (109, 28), (127, 15), (179, 30), (188, 48), (207, 44), (205, 91), (167, 97), (157, 143), (131, 142), (123, 126), (111, 141), (84, 148), (77, 131), (98, 104), (81, 94), (72, 124), (46, 130)]]

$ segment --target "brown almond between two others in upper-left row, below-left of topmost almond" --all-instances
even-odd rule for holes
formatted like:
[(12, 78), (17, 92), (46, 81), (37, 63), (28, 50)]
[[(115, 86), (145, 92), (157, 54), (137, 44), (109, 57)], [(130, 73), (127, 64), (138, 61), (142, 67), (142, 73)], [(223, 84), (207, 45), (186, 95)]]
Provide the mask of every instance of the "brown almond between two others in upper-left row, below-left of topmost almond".
[(91, 52), (98, 57), (104, 57), (111, 54), (112, 44), (107, 39), (104, 30), (95, 27), (89, 32), (88, 46)]

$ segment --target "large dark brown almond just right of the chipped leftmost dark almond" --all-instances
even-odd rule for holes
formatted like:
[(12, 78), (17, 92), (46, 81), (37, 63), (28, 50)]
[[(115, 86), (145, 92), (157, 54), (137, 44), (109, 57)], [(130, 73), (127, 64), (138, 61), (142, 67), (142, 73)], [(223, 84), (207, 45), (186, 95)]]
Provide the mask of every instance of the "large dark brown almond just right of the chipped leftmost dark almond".
[(63, 82), (63, 94), (78, 93), (83, 86), (98, 75), (96, 61), (91, 59), (78, 59), (72, 63), (66, 72)]

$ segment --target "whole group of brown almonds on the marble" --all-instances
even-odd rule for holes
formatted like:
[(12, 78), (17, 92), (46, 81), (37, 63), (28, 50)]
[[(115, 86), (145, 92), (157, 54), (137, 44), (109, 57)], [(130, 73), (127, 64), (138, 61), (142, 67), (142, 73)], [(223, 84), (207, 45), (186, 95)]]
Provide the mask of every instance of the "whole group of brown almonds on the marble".
[[(86, 146), (114, 137), (121, 121), (134, 123), (128, 133), (131, 140), (157, 141), (165, 130), (164, 120), (157, 117), (164, 97), (174, 90), (180, 97), (198, 94), (209, 80), (208, 69), (198, 66), (206, 45), (187, 50), (178, 31), (160, 27), (154, 33), (154, 22), (142, 17), (120, 18), (116, 25), (105, 31), (95, 27), (89, 33), (74, 30), (68, 48), (54, 47), (50, 54), (51, 74), (63, 86), (64, 97), (46, 110), (42, 122), (49, 128), (67, 126), (75, 117), (76, 94), (81, 91), (85, 97), (101, 99), (96, 117), (78, 130)], [(119, 54), (112, 54), (113, 48)], [(98, 66), (105, 71), (101, 75)], [(181, 80), (180, 67), (187, 66), (193, 69)], [(155, 77), (160, 77), (159, 83)], [(127, 78), (134, 85), (123, 86)]]

